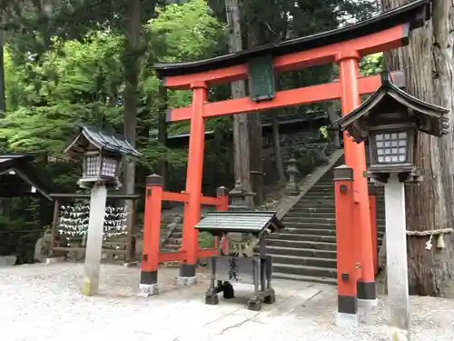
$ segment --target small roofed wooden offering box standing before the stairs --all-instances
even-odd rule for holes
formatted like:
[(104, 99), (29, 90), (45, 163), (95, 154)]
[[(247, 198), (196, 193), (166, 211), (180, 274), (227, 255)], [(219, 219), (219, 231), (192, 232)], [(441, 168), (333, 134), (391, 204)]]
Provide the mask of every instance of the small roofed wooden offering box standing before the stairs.
[(213, 236), (227, 237), (232, 246), (227, 255), (221, 252), (220, 256), (210, 258), (212, 273), (205, 296), (207, 305), (217, 305), (221, 292), (224, 298), (233, 298), (231, 283), (253, 285), (253, 296), (248, 300), (250, 310), (261, 310), (263, 302), (274, 303), (272, 262), (271, 256), (265, 255), (265, 238), (283, 228), (276, 212), (210, 212), (195, 228)]

